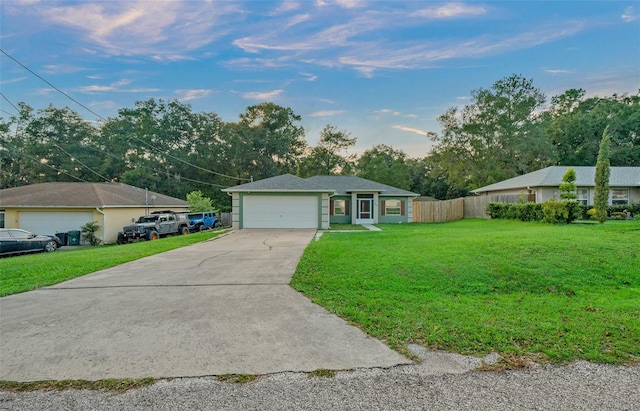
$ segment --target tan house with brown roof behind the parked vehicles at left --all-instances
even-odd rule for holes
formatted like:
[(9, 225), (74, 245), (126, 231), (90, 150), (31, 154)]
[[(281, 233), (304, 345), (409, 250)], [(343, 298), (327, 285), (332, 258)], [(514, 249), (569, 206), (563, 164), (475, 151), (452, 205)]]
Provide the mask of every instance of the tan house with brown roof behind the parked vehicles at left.
[(108, 244), (141, 215), (188, 207), (178, 198), (120, 183), (41, 183), (0, 190), (0, 227), (55, 234), (97, 221), (102, 228), (96, 236)]

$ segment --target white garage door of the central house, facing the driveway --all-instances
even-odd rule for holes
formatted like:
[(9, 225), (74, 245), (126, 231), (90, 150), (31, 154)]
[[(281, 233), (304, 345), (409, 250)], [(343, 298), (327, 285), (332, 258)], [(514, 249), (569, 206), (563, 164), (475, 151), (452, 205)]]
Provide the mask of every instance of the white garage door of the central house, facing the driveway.
[(247, 195), (242, 210), (243, 228), (318, 228), (318, 197)]

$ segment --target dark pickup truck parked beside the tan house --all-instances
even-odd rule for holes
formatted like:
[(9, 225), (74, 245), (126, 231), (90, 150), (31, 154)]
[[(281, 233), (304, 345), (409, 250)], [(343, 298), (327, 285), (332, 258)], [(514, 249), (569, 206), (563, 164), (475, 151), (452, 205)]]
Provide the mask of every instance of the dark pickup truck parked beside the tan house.
[(189, 234), (189, 219), (186, 213), (171, 210), (154, 211), (118, 233), (118, 244), (135, 240), (157, 240), (172, 234)]

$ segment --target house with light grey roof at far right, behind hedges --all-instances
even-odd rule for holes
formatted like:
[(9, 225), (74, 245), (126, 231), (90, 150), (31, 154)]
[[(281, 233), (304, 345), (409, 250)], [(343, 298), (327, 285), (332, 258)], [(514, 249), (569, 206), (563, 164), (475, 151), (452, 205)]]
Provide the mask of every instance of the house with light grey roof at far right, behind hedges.
[[(529, 174), (510, 178), (473, 190), (479, 195), (535, 196), (537, 203), (560, 199), (560, 183), (569, 168), (576, 172), (576, 194), (584, 205), (593, 204), (595, 167), (552, 166)], [(609, 204), (624, 205), (640, 202), (640, 167), (611, 167)]]

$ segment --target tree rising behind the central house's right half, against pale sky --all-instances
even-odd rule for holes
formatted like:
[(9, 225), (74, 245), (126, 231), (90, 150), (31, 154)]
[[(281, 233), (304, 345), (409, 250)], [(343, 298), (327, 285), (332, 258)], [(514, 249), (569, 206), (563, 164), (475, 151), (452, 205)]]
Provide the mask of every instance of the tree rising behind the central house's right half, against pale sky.
[(349, 174), (353, 170), (355, 155), (347, 150), (356, 144), (346, 131), (327, 124), (320, 132), (320, 141), (307, 150), (298, 166), (300, 177), (314, 175)]

